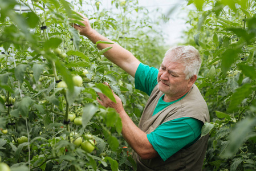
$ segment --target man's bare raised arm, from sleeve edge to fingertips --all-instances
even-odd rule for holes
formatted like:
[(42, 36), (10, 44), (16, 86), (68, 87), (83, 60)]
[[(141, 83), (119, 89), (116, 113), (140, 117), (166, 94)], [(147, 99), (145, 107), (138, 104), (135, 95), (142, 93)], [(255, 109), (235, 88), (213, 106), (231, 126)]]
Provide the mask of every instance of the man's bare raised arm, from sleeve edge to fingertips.
[[(91, 27), (88, 18), (84, 17), (84, 15), (81, 13), (78, 14), (82, 16), (83, 21), (81, 22), (85, 25), (80, 26), (74, 24), (74, 28), (79, 31), (80, 35), (86, 36), (88, 39), (92, 41), (92, 43), (96, 43), (98, 40), (112, 42), (108, 38), (105, 38), (103, 35), (99, 34), (99, 32), (97, 32), (96, 30), (94, 30)], [(112, 43), (114, 44), (99, 43), (97, 44), (97, 48), (99, 48), (99, 50), (102, 50), (106, 47), (113, 47), (107, 52), (105, 52), (103, 55), (107, 59), (111, 60), (111, 62), (115, 63), (117, 66), (122, 68), (129, 75), (135, 77), (135, 72), (140, 64), (140, 61), (137, 58), (135, 58), (135, 56), (133, 56), (131, 52), (125, 50), (125, 48), (121, 47), (119, 44), (116, 44), (115, 42)]]

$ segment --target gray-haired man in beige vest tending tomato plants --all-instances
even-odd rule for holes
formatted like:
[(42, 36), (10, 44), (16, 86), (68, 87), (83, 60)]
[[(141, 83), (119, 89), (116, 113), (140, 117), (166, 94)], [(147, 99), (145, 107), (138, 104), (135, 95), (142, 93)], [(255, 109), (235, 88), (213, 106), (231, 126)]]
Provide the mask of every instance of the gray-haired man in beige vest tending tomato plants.
[[(74, 28), (81, 35), (93, 43), (111, 42), (80, 15), (84, 26), (74, 24)], [(117, 95), (114, 94), (116, 103), (102, 93), (97, 99), (119, 113), (122, 135), (134, 150), (137, 170), (202, 170), (208, 136), (201, 137), (201, 128), (209, 122), (209, 112), (194, 84), (201, 66), (198, 51), (192, 46), (174, 47), (166, 52), (157, 70), (141, 63), (119, 44), (97, 45), (99, 49), (109, 46), (113, 48), (104, 56), (133, 76), (135, 88), (149, 95), (139, 127), (129, 118)]]

